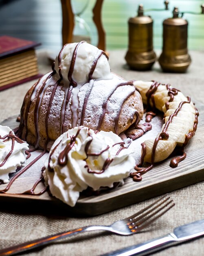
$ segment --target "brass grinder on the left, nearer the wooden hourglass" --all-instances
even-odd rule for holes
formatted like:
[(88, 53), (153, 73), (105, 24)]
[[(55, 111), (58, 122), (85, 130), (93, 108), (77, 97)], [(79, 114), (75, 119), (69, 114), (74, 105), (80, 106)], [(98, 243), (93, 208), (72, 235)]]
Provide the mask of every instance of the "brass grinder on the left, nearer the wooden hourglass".
[(138, 7), (138, 16), (130, 18), (129, 47), (125, 60), (134, 70), (149, 70), (156, 61), (153, 51), (153, 20), (144, 16), (143, 5)]

